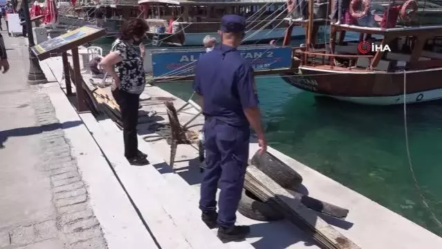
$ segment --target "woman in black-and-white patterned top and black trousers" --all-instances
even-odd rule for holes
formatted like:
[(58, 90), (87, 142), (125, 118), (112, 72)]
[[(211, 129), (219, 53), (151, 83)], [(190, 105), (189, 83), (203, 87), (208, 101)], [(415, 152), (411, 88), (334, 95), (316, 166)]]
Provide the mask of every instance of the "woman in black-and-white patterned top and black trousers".
[[(133, 18), (125, 21), (120, 36), (112, 44), (111, 52), (100, 62), (104, 71), (113, 77), (112, 95), (120, 106), (125, 157), (131, 165), (149, 164), (147, 155), (138, 150), (136, 130), (140, 94), (146, 85), (143, 68), (146, 52), (141, 39), (148, 30), (149, 26), (143, 19)], [(141, 54), (134, 45), (139, 45)]]

